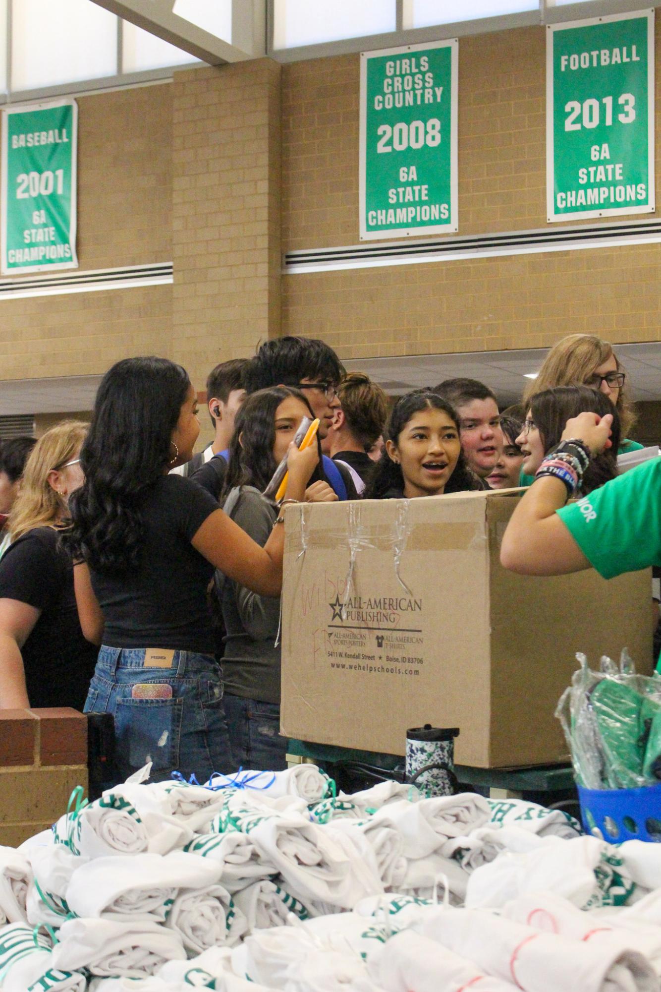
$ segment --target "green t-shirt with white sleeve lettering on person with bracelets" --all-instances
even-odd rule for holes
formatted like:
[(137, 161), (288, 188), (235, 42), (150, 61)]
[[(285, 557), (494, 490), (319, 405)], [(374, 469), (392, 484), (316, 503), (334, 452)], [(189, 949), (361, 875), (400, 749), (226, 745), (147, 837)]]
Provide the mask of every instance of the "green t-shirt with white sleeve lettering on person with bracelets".
[(618, 475), (557, 513), (605, 578), (661, 565), (661, 457)]

